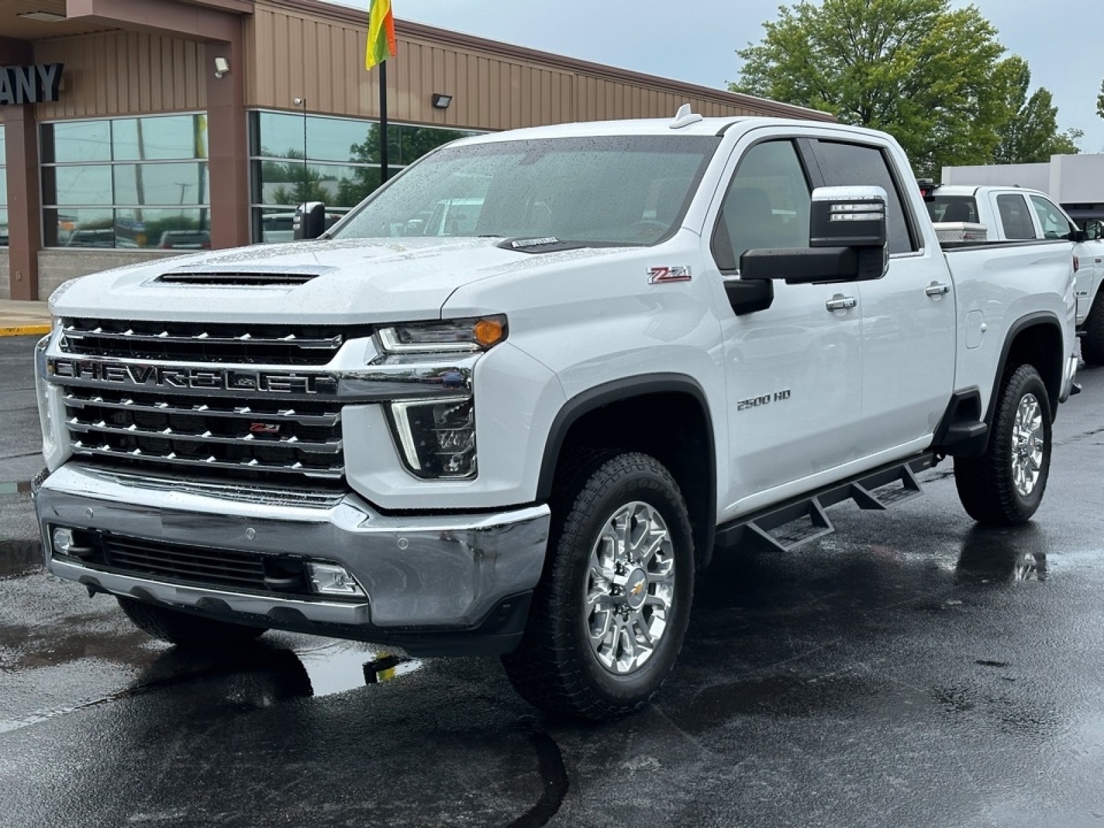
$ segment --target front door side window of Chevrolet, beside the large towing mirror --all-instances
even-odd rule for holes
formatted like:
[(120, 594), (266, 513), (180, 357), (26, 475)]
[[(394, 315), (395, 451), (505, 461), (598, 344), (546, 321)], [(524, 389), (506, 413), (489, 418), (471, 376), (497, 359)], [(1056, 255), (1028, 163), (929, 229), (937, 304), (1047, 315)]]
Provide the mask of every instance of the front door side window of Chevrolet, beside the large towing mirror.
[(712, 251), (722, 270), (735, 270), (745, 251), (809, 246), (809, 182), (793, 141), (749, 149), (724, 194)]

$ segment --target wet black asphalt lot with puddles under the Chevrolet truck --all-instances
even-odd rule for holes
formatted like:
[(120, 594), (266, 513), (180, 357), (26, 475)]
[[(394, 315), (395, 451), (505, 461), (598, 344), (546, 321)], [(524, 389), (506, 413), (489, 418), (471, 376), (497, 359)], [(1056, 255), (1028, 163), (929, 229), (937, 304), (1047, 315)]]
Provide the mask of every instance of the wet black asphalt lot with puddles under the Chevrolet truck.
[(495, 659), (198, 657), (46, 576), (32, 346), (0, 339), (0, 826), (1104, 826), (1104, 370), (1030, 524), (975, 528), (946, 463), (720, 558), (655, 702), (582, 725)]

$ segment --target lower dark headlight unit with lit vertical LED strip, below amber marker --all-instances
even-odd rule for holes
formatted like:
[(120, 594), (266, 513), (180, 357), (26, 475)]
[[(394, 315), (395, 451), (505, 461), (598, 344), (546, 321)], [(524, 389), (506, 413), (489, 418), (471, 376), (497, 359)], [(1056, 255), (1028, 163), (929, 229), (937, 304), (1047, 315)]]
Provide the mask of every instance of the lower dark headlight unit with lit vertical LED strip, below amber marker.
[(418, 477), (464, 479), (476, 474), (476, 410), (470, 396), (391, 403), (406, 467)]

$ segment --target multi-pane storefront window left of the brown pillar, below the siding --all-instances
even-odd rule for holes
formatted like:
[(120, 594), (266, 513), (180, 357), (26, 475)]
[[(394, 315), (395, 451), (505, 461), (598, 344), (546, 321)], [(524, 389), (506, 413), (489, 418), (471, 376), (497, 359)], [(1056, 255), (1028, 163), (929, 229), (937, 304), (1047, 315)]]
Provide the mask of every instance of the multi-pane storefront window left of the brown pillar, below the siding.
[(47, 247), (211, 246), (206, 116), (42, 125)]

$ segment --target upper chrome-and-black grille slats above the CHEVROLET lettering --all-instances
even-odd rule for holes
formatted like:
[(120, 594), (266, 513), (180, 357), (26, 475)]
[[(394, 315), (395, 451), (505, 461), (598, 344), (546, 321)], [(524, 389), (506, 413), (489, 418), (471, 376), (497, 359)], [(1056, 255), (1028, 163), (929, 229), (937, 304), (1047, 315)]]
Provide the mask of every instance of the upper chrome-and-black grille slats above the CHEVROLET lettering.
[(168, 362), (325, 365), (346, 340), (371, 329), (329, 326), (65, 319), (61, 350), (84, 357)]

